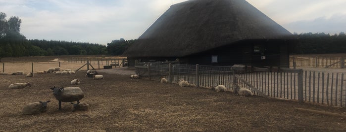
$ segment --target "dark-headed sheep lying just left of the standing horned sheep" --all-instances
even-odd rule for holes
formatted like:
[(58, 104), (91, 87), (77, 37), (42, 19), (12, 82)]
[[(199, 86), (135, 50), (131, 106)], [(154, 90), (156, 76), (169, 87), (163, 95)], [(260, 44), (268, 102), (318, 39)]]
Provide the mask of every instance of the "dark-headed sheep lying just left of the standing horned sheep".
[(32, 114), (40, 114), (47, 111), (47, 103), (50, 102), (50, 100), (42, 102), (32, 102), (28, 103), (23, 108), (23, 114), (24, 115), (32, 115)]

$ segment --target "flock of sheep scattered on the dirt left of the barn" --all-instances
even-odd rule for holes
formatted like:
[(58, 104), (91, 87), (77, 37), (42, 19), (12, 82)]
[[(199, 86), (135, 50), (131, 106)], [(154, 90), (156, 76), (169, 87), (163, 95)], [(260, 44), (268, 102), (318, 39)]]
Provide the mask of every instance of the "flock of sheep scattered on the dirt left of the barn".
[[(37, 74), (42, 73), (54, 73), (54, 74), (75, 74), (75, 71), (71, 69), (65, 69), (61, 70), (60, 67), (52, 67), (49, 68), (47, 71), (38, 71)], [(92, 76), (88, 76), (92, 74)], [(5, 72), (1, 72), (1, 75), (10, 75)], [(17, 71), (13, 72), (11, 75), (24, 75), (24, 72)], [(26, 77), (33, 77), (34, 74), (32, 72), (29, 72)], [(94, 79), (103, 79), (103, 75), (99, 75), (96, 70), (88, 70), (86, 77), (93, 77)], [(78, 78), (73, 79), (70, 82), (71, 85), (78, 85), (80, 84), (80, 81)], [(31, 87), (32, 85), (29, 82), (26, 83), (13, 83), (8, 86), (9, 89), (23, 89), (25, 87)], [(53, 95), (55, 99), (59, 101), (59, 109), (61, 109), (61, 102), (70, 102), (72, 104), (72, 112), (76, 110), (81, 111), (87, 111), (89, 104), (85, 102), (79, 102), (80, 99), (83, 99), (84, 93), (79, 87), (52, 87), (50, 88), (53, 90)], [(73, 101), (77, 101), (74, 103)], [(47, 103), (50, 102), (50, 100), (47, 101), (38, 101), (38, 102), (32, 102), (28, 103), (24, 106), (22, 110), (22, 114), (40, 114), (47, 111)]]

